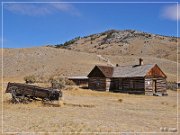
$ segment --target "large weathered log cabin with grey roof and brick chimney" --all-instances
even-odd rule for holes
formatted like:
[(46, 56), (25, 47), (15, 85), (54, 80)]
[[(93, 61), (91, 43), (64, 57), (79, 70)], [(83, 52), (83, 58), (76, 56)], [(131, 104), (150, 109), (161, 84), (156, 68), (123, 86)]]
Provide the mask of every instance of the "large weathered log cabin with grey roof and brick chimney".
[(88, 87), (92, 90), (167, 95), (167, 76), (157, 64), (130, 66), (95, 66), (88, 74)]

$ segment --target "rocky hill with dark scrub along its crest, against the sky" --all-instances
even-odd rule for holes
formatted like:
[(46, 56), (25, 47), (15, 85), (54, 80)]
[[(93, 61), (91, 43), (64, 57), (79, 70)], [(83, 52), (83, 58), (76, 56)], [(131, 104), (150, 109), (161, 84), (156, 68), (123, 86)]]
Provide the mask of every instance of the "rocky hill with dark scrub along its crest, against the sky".
[(108, 30), (85, 37), (77, 37), (55, 48), (117, 56), (153, 56), (177, 61), (177, 42), (168, 37), (135, 30)]

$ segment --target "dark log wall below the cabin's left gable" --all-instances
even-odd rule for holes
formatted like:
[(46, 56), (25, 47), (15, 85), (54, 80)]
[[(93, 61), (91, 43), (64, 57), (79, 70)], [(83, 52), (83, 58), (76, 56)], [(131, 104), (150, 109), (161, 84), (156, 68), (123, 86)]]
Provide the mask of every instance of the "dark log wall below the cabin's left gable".
[(89, 89), (105, 91), (106, 88), (106, 78), (105, 77), (89, 77), (88, 83)]

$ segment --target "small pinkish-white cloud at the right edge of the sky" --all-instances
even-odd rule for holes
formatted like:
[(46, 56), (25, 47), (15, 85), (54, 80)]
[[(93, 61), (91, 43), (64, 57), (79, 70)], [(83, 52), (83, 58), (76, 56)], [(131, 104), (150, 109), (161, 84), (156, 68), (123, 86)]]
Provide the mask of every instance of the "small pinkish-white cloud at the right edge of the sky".
[(162, 17), (169, 20), (180, 20), (180, 5), (174, 4), (162, 10)]

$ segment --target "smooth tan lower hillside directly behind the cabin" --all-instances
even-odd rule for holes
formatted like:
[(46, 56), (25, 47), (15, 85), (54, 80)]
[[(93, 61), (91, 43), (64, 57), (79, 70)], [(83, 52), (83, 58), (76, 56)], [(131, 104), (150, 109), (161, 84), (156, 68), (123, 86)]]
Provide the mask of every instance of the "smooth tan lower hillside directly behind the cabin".
[[(87, 75), (96, 64), (132, 65), (138, 63), (138, 58), (138, 56), (97, 55), (50, 47), (4, 49), (3, 77), (5, 81), (17, 81), (27, 75), (35, 75), (45, 80), (56, 75), (81, 76)], [(147, 56), (142, 58), (145, 64), (157, 63), (168, 75), (168, 80), (176, 80), (176, 62)]]

